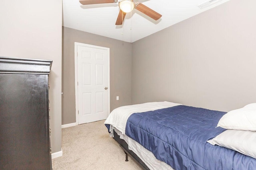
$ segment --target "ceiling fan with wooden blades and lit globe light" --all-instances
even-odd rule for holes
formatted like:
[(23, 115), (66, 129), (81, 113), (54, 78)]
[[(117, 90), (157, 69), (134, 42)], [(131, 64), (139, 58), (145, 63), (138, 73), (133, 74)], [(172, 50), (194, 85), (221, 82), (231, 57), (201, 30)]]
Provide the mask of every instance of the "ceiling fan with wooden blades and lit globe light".
[(133, 0), (80, 0), (79, 1), (82, 5), (91, 5), (91, 4), (107, 4), (107, 3), (117, 3), (120, 8), (116, 25), (122, 25), (124, 22), (124, 18), (126, 13), (131, 12), (134, 8), (143, 14), (146, 14), (150, 18), (154, 20), (158, 20), (162, 17), (161, 14), (158, 14), (151, 8), (143, 5), (140, 2), (134, 2)]

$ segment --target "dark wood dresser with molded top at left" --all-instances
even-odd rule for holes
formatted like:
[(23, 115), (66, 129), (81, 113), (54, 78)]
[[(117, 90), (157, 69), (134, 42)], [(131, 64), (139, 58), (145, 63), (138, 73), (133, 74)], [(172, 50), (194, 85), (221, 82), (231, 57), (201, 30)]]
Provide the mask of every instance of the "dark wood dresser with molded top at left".
[(0, 170), (51, 170), (52, 61), (0, 57)]

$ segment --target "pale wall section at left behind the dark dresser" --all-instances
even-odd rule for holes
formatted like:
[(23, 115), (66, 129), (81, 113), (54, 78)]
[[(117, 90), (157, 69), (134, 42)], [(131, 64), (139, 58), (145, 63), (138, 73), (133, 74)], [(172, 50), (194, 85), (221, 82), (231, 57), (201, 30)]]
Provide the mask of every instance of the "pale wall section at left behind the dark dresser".
[(61, 150), (62, 0), (0, 1), (0, 56), (53, 60), (50, 72), (52, 152)]

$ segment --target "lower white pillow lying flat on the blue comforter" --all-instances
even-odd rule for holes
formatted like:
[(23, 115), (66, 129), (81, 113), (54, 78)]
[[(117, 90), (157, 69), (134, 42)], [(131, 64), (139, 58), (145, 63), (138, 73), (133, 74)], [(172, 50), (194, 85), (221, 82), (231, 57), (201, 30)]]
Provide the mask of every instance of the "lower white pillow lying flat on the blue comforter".
[(256, 158), (255, 141), (255, 131), (226, 130), (207, 142)]

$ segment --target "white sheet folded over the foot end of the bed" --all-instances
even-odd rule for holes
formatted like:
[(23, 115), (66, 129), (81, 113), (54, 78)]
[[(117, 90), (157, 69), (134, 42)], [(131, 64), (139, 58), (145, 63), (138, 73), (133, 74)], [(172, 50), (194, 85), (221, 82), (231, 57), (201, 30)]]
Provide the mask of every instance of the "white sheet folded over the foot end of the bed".
[(142, 113), (145, 111), (153, 111), (157, 109), (164, 109), (168, 107), (173, 107), (173, 106), (178, 106), (181, 104), (177, 103), (172, 103), (172, 102), (148, 102), (144, 104), (134, 104), (134, 105), (129, 105), (129, 106), (121, 106), (116, 109), (114, 109), (104, 124), (109, 124), (112, 125), (110, 126), (110, 133), (112, 134), (112, 128), (115, 127), (120, 131), (123, 135), (125, 135), (125, 127), (126, 127), (126, 122), (132, 113)]

